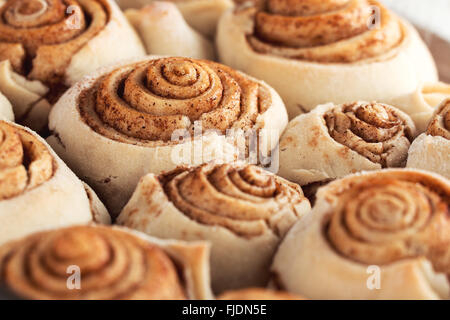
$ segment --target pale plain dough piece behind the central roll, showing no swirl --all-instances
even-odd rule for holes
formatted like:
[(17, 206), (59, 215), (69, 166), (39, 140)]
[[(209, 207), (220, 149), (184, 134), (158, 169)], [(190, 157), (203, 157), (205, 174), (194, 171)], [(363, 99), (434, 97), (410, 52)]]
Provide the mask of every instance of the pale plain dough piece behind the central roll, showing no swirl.
[(171, 2), (153, 2), (141, 9), (129, 9), (125, 15), (148, 54), (215, 59), (212, 42), (192, 29)]

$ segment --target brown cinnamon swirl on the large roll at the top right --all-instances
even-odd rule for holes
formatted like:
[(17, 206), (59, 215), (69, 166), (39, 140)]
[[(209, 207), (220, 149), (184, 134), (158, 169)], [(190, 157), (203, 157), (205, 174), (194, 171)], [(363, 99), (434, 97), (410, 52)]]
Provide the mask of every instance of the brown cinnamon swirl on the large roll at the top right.
[(265, 0), (251, 10), (250, 45), (286, 58), (355, 62), (388, 52), (403, 37), (398, 19), (373, 0)]

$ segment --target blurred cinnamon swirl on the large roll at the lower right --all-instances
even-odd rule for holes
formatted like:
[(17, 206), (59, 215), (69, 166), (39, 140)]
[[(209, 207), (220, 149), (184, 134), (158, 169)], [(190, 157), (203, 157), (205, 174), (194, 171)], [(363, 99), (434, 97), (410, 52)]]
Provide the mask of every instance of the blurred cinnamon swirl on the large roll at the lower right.
[(448, 184), (424, 173), (377, 172), (347, 178), (336, 198), (326, 234), (340, 254), (365, 264), (426, 256), (450, 266), (435, 255), (450, 240)]

